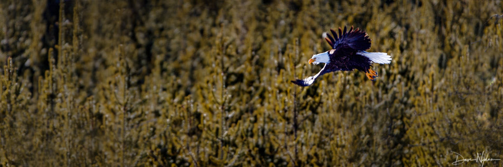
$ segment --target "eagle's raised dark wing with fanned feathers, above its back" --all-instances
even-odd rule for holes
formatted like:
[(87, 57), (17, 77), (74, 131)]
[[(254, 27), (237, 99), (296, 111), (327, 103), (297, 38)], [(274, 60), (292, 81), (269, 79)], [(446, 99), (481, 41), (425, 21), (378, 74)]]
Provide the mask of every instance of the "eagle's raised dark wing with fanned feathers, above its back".
[(344, 44), (357, 51), (370, 49), (371, 40), (369, 36), (367, 36), (367, 33), (364, 31), (358, 30), (358, 28), (353, 31), (353, 26), (351, 26), (349, 32), (346, 26), (344, 27), (344, 31), (339, 28), (339, 36), (337, 36), (336, 31), (332, 29), (330, 29), (330, 32), (332, 32), (333, 37), (327, 34), (325, 40), (330, 44), (332, 49), (337, 49), (338, 47), (344, 46)]

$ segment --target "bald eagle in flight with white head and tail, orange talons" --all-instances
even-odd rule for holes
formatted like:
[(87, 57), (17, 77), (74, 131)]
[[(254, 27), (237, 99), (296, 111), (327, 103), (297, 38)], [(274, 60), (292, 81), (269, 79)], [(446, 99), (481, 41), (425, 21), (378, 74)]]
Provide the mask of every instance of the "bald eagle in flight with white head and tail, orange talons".
[(313, 55), (309, 59), (309, 64), (325, 63), (323, 68), (314, 76), (305, 79), (297, 79), (292, 81), (300, 86), (309, 86), (319, 76), (333, 71), (351, 71), (354, 69), (365, 72), (367, 77), (374, 81), (377, 77), (377, 72), (372, 70), (372, 63), (389, 64), (391, 56), (381, 52), (365, 52), (370, 49), (370, 38), (367, 33), (362, 30), (353, 30), (353, 26), (347, 31), (339, 28), (339, 36), (336, 31), (330, 29), (333, 37), (327, 34), (326, 42), (332, 47), (331, 50)]

